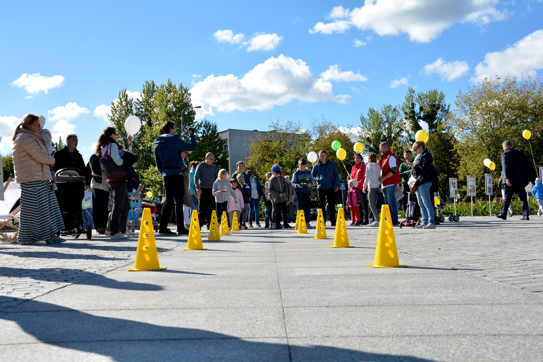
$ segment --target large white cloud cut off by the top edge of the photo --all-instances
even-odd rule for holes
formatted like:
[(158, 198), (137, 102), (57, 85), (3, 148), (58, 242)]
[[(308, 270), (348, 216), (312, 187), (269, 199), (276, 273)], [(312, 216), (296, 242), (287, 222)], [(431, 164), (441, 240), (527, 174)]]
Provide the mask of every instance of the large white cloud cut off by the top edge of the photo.
[(498, 10), (500, 0), (365, 0), (355, 9), (334, 7), (327, 18), (318, 22), (312, 34), (344, 33), (350, 27), (372, 30), (379, 35), (407, 33), (409, 39), (428, 42), (454, 23), (471, 22), (479, 26), (503, 20), (507, 10)]

